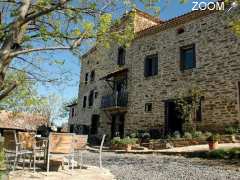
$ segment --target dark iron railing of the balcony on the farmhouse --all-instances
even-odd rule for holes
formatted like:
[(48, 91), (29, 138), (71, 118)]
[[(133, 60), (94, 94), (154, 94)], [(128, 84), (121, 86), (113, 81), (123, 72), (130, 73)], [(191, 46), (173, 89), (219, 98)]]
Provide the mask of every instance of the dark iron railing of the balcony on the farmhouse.
[(101, 108), (109, 107), (127, 107), (128, 93), (127, 92), (115, 92), (112, 95), (102, 97)]

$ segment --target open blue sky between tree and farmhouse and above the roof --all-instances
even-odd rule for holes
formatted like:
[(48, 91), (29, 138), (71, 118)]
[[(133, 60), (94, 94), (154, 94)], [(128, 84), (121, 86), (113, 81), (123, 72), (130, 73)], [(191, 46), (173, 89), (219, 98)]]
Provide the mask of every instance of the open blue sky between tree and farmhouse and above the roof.
[[(176, 16), (180, 16), (187, 12), (190, 12), (193, 8), (193, 2), (197, 0), (188, 0), (186, 3), (181, 4), (180, 0), (165, 0), (167, 3), (160, 3), (158, 4), (160, 7), (160, 16), (161, 20), (169, 20)], [(214, 0), (198, 0), (198, 2), (211, 2)], [(144, 9), (143, 6), (137, 4), (137, 8), (148, 12)], [(115, 12), (116, 13), (116, 12)], [(121, 17), (121, 15), (125, 13), (124, 10), (119, 10), (116, 14)], [(148, 12), (151, 13), (151, 12)], [(65, 71), (71, 72), (71, 79), (69, 83), (61, 86), (49, 86), (45, 87), (42, 85), (38, 86), (38, 92), (40, 95), (47, 96), (49, 94), (55, 94), (56, 96), (60, 97), (59, 105), (67, 100), (73, 99), (78, 95), (78, 88), (79, 88), (79, 78), (80, 78), (80, 60), (78, 57), (72, 55), (70, 52), (66, 51), (59, 51), (59, 53), (55, 53), (54, 55), (56, 59), (61, 59), (64, 61), (63, 69)], [(51, 68), (51, 67), (48, 67)], [(49, 69), (50, 71), (54, 72), (54, 69)], [(62, 122), (67, 121), (67, 119), (58, 119), (56, 124), (61, 124)]]

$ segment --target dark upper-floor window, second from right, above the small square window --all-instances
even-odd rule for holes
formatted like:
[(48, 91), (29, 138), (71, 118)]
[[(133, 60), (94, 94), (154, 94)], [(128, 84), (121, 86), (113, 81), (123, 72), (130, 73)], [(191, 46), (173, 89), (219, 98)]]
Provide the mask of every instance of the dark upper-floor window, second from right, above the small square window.
[(150, 55), (145, 58), (144, 75), (145, 77), (158, 74), (158, 55)]

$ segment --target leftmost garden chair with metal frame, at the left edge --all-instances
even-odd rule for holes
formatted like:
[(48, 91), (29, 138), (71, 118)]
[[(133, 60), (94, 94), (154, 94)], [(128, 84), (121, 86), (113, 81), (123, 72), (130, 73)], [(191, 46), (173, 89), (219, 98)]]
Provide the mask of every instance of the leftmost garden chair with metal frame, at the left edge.
[[(11, 158), (13, 160), (12, 169), (15, 171), (16, 166), (18, 165), (18, 160), (20, 158), (23, 159), (23, 168), (25, 167), (25, 158), (26, 156), (33, 157), (33, 150), (27, 150), (23, 148), (22, 143), (18, 140), (17, 133), (15, 130), (5, 130), (3, 132), (4, 141), (4, 152), (6, 154), (6, 159), (11, 166)], [(30, 168), (31, 168), (31, 160), (30, 160)], [(34, 162), (34, 171), (35, 171), (35, 162)]]

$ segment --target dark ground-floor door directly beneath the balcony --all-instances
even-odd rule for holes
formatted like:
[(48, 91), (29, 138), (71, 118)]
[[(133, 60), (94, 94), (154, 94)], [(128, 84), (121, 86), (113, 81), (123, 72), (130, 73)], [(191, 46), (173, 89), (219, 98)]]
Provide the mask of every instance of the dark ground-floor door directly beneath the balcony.
[(112, 114), (111, 137), (124, 137), (124, 120), (125, 114)]

